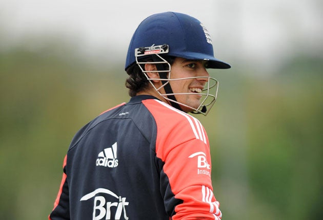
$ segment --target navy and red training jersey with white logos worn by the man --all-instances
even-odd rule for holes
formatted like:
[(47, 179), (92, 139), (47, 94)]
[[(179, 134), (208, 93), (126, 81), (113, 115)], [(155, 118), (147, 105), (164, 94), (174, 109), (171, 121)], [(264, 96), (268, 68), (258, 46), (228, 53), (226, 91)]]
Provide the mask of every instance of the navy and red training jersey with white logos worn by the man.
[(80, 129), (49, 219), (220, 219), (200, 122), (152, 96)]

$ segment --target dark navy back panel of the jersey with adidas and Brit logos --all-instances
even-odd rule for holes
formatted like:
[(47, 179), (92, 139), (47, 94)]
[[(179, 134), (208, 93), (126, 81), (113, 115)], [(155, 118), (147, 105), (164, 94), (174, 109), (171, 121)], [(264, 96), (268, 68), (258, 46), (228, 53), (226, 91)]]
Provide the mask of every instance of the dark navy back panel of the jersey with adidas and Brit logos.
[(169, 219), (154, 181), (163, 166), (156, 124), (139, 102), (98, 116), (75, 135), (66, 166), (71, 219)]

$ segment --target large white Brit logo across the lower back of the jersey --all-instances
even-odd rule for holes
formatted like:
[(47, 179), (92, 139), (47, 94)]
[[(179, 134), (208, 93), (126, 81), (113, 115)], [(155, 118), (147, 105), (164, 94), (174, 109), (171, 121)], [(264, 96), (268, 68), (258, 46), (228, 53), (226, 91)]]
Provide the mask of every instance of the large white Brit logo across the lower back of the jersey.
[(126, 197), (118, 196), (109, 189), (98, 188), (84, 195), (79, 201), (90, 201), (88, 204), (85, 202), (85, 205), (93, 205), (93, 220), (129, 219), (126, 212), (129, 202), (126, 201)]

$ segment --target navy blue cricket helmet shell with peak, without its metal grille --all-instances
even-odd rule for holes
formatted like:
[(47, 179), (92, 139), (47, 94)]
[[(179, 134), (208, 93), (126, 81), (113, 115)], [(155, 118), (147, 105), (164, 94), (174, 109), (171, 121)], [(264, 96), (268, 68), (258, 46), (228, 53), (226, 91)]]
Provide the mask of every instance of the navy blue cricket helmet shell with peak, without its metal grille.
[(208, 68), (231, 66), (214, 57), (208, 30), (194, 17), (177, 12), (153, 14), (139, 24), (130, 41), (125, 70), (136, 62), (135, 49), (168, 45), (167, 55), (186, 59), (208, 60)]

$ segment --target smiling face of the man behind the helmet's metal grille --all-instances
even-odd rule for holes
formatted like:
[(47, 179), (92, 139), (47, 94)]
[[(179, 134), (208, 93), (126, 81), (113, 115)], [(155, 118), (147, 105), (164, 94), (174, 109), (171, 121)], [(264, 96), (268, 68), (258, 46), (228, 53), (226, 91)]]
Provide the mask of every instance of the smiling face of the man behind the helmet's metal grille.
[[(187, 77), (209, 77), (206, 70), (206, 60), (188, 60), (176, 57), (171, 66), (170, 79), (179, 79)], [(175, 95), (179, 103), (186, 104), (190, 107), (197, 108), (200, 105), (202, 95), (201, 90), (204, 89), (208, 78), (193, 78), (183, 80), (171, 80), (170, 85), (174, 93), (187, 93), (185, 95)], [(192, 109), (181, 105), (184, 112), (192, 112)]]

